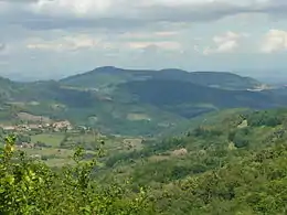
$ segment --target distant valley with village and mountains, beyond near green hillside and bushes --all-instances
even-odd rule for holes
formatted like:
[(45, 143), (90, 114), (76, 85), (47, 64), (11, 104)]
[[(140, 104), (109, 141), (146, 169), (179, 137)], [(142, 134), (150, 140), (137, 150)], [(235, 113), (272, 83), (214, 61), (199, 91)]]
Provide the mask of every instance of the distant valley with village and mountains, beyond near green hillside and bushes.
[(59, 82), (1, 83), (2, 141), (14, 133), (19, 149), (52, 165), (63, 165), (77, 146), (93, 151), (105, 141), (111, 155), (137, 151), (138, 139), (169, 138), (237, 111), (287, 103), (283, 90), (215, 72), (99, 67)]

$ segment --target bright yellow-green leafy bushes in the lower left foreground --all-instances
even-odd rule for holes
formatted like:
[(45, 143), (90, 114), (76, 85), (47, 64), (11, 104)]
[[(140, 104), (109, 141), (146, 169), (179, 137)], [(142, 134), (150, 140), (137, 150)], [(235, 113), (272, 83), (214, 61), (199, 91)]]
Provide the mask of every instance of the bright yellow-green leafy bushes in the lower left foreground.
[(14, 151), (13, 137), (0, 153), (0, 214), (155, 214), (144, 189), (128, 192), (125, 184), (99, 185), (93, 180), (96, 160), (85, 161), (83, 150), (75, 165), (53, 171), (44, 163)]

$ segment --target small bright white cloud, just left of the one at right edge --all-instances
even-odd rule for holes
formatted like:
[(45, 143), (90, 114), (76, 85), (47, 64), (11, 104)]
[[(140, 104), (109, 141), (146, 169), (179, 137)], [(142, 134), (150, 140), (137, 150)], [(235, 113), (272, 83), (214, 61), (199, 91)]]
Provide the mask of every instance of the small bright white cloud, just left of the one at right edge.
[(232, 31), (228, 31), (223, 35), (215, 35), (213, 37), (215, 47), (206, 47), (203, 51), (203, 54), (232, 53), (240, 47), (240, 41), (247, 36), (248, 34), (246, 33), (234, 33)]

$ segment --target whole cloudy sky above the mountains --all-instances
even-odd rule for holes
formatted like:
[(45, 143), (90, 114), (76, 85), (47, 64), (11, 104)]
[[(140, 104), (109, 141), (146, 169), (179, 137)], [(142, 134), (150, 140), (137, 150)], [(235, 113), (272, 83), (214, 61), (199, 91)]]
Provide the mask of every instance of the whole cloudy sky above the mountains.
[(287, 76), (286, 0), (0, 0), (0, 75), (178, 67)]

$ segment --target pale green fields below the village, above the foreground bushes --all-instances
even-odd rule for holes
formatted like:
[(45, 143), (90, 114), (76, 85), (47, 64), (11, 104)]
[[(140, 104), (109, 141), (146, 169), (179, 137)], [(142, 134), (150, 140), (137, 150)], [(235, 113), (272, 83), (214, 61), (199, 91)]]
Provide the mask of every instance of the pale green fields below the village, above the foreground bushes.
[[(141, 139), (128, 137), (105, 137), (96, 133), (62, 133), (47, 132), (32, 135), (31, 143), (45, 143), (43, 147), (21, 148), (28, 155), (36, 157), (43, 160), (50, 166), (63, 166), (71, 163), (76, 147), (84, 147), (86, 153), (94, 154), (97, 148), (105, 151), (106, 159), (119, 152), (129, 152), (132, 150), (141, 150)], [(104, 141), (104, 144), (100, 144)]]

